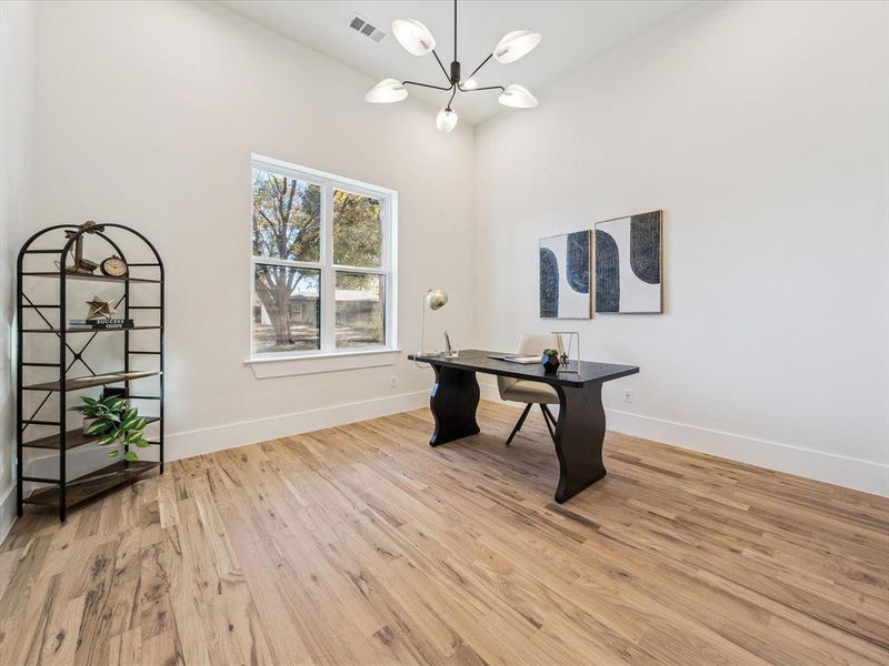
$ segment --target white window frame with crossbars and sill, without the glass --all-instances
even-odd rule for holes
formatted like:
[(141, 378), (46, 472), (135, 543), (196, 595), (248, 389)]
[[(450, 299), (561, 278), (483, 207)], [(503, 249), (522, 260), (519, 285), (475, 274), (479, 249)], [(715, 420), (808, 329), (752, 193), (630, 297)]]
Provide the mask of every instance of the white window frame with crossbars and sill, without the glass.
[[(253, 169), (271, 171), (287, 178), (307, 181), (321, 188), (321, 248), (320, 261), (289, 261), (268, 256), (257, 256), (253, 254), (253, 222), (250, 216), (249, 226), (249, 248), (250, 248), (250, 316), (248, 324), (250, 327), (250, 356), (248, 363), (264, 363), (276, 361), (308, 361), (311, 363), (301, 364), (302, 369), (293, 366), (280, 366), (277, 369), (266, 369), (257, 371), (257, 376), (280, 376), (282, 374), (303, 374), (303, 372), (323, 372), (326, 370), (344, 370), (347, 367), (369, 367), (374, 365), (390, 365), (394, 362), (394, 354), (399, 351), (397, 346), (396, 313), (398, 302), (398, 279), (397, 279), (397, 220), (398, 220), (398, 192), (388, 188), (381, 188), (350, 178), (343, 178), (333, 173), (327, 173), (308, 167), (300, 167), (282, 160), (276, 160), (259, 154), (250, 157), (250, 172)], [(250, 178), (250, 194), (252, 201), (252, 176)], [(379, 268), (349, 266), (333, 263), (333, 190), (342, 190), (353, 194), (372, 196), (380, 201), (380, 222), (382, 224), (382, 248), (381, 262)], [(253, 304), (256, 302), (256, 266), (257, 264), (274, 264), (292, 266), (296, 269), (311, 269), (321, 271), (319, 286), (319, 297), (321, 299), (321, 320), (319, 350), (302, 350), (287, 352), (257, 352), (253, 349)], [(380, 275), (383, 281), (381, 296), (383, 297), (383, 340), (381, 345), (368, 345), (360, 347), (337, 347), (336, 331), (336, 278), (338, 272), (364, 273)], [(374, 361), (371, 356), (381, 354), (387, 357)], [(351, 359), (348, 365), (334, 364), (328, 366), (318, 360), (323, 359)], [(288, 367), (290, 370), (288, 370)], [(256, 371), (256, 369), (254, 369)], [(291, 372), (292, 371), (292, 372)]]

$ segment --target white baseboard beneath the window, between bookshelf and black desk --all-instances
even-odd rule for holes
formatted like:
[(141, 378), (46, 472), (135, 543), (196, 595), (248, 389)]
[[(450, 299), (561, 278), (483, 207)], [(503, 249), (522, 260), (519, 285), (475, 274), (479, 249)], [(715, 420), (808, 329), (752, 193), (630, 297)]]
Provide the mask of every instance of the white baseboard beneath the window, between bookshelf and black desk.
[(304, 412), (293, 412), (267, 418), (256, 418), (228, 423), (167, 435), (166, 453), (168, 461), (223, 451), (234, 446), (256, 444), (277, 437), (287, 437), (326, 427), (336, 427), (357, 421), (378, 418), (417, 410), (429, 404), (429, 391), (400, 393), (373, 400), (319, 407)]

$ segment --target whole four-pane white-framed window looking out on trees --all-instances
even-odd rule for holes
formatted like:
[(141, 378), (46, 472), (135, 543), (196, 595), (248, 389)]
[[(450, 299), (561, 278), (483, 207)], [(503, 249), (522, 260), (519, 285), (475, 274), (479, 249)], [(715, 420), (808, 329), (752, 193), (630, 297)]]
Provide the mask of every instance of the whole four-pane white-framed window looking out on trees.
[(251, 357), (394, 346), (396, 192), (254, 155)]

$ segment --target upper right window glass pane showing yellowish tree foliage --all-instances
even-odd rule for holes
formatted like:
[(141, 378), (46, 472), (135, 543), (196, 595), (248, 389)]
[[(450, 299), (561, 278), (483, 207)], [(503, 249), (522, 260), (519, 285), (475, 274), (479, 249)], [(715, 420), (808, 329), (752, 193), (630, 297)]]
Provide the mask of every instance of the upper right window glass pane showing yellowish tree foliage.
[(379, 268), (382, 263), (379, 199), (333, 190), (333, 263)]

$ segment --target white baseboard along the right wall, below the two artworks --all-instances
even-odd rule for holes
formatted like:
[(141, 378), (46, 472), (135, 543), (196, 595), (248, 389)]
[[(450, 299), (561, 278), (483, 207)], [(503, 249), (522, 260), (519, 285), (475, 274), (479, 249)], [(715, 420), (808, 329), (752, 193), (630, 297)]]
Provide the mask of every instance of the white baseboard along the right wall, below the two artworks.
[[(486, 400), (500, 400), (497, 386), (491, 384), (482, 384), (481, 394)], [(606, 416), (610, 431), (889, 497), (889, 463), (880, 464), (621, 410), (606, 408)]]

